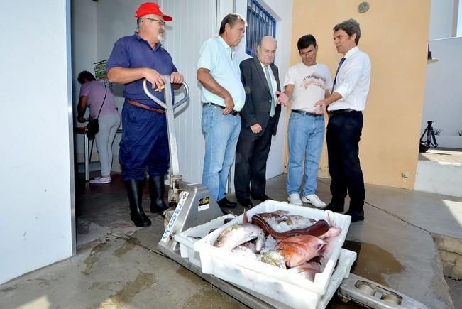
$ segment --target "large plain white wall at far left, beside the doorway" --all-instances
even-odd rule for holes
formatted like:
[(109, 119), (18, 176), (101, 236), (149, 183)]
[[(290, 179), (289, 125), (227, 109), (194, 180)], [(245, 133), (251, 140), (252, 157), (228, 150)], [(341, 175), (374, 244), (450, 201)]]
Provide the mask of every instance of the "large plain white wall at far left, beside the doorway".
[(75, 227), (70, 0), (1, 1), (0, 11), (3, 283), (71, 256)]

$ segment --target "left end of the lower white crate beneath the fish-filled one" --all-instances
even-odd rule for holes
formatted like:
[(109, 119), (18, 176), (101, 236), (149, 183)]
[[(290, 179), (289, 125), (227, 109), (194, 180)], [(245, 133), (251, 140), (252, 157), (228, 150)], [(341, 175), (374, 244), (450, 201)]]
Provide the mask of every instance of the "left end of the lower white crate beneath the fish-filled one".
[(200, 267), (201, 260), (199, 257), (199, 252), (194, 251), (194, 243), (197, 242), (197, 239), (194, 237), (204, 237), (209, 234), (211, 229), (216, 229), (223, 225), (225, 219), (235, 218), (235, 215), (224, 215), (217, 217), (216, 219), (211, 220), (210, 222), (198, 225), (197, 227), (190, 227), (186, 231), (181, 232), (180, 234), (175, 235), (175, 240), (180, 244), (180, 255), (183, 259), (189, 259), (189, 261)]

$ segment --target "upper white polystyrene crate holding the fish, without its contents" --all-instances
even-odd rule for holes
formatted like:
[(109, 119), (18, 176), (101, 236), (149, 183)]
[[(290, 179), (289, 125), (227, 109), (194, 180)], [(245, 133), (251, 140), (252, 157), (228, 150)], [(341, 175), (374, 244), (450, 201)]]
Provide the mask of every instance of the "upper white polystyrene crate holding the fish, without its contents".
[[(335, 242), (331, 243), (332, 248), (329, 261), (327, 261), (324, 271), (314, 276), (314, 281), (309, 281), (298, 273), (291, 273), (285, 269), (280, 269), (276, 266), (215, 247), (214, 243), (219, 234), (226, 227), (242, 223), (243, 215), (236, 217), (236, 219), (233, 219), (223, 227), (216, 229), (214, 232), (197, 241), (194, 244), (194, 251), (199, 252), (203, 273), (213, 274), (224, 281), (242, 286), (247, 290), (255, 291), (264, 296), (282, 301), (282, 303), (287, 303), (290, 307), (297, 308), (299, 306), (296, 305), (296, 300), (290, 300), (293, 297), (290, 299), (287, 298), (287, 286), (290, 288), (296, 286), (300, 289), (299, 291), (304, 291), (304, 293), (313, 292), (317, 297), (326, 293), (336, 261), (339, 259), (341, 246), (345, 242), (346, 233), (350, 227), (351, 217), (339, 213), (324, 212), (324, 210), (287, 204), (287, 202), (275, 202), (273, 200), (266, 200), (260, 205), (251, 208), (247, 212), (247, 216), (249, 221), (251, 221), (251, 217), (255, 214), (276, 210), (287, 210), (291, 215), (302, 215), (307, 218), (315, 220), (324, 219), (326, 221), (328, 221), (327, 214), (330, 213), (335, 226), (341, 227), (341, 234), (336, 237)], [(292, 296), (292, 293), (290, 295)], [(300, 293), (299, 298), (304, 298), (302, 293)]]

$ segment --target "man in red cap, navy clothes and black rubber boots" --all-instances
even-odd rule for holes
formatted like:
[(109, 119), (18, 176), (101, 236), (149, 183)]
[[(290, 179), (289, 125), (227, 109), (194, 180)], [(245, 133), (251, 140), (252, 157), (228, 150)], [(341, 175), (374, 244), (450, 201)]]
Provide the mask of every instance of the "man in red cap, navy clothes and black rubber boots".
[[(172, 21), (172, 17), (153, 2), (141, 4), (135, 17), (138, 32), (117, 40), (106, 69), (111, 82), (125, 85), (119, 161), (131, 220), (137, 227), (147, 227), (151, 222), (141, 205), (145, 170), (148, 168), (150, 211), (162, 213), (167, 208), (163, 200), (164, 177), (170, 155), (165, 110), (146, 96), (143, 80), (148, 80), (153, 89), (161, 89), (165, 82), (162, 75), (169, 75), (170, 82), (175, 84), (181, 84), (183, 77), (161, 44), (165, 21)], [(153, 93), (165, 102), (163, 91)]]

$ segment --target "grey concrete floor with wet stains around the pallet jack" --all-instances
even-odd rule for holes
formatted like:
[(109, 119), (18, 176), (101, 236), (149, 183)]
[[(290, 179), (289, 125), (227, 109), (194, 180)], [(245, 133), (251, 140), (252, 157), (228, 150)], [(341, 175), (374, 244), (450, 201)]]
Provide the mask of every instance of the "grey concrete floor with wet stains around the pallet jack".
[[(329, 180), (318, 183), (328, 202)], [(131, 225), (119, 175), (76, 191), (77, 255), (1, 285), (0, 308), (246, 308), (156, 250), (160, 216), (148, 212), (151, 227)], [(267, 193), (285, 200), (285, 175), (268, 180)], [(365, 221), (351, 224), (345, 244), (358, 252), (351, 271), (429, 308), (462, 308), (462, 284), (446, 283), (431, 237), (462, 239), (462, 199), (374, 185), (366, 193)], [(359, 307), (334, 298), (328, 308)]]

